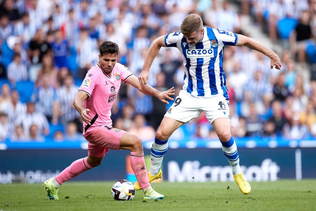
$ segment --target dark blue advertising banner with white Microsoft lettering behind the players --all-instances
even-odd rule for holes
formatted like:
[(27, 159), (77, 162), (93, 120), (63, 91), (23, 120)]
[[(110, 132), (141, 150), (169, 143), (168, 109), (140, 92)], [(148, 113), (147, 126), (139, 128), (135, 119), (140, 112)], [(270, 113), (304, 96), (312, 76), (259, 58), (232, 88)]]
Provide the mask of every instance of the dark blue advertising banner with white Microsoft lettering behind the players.
[[(249, 181), (316, 178), (316, 148), (239, 148), (240, 166)], [(147, 168), (150, 150), (145, 149)], [(87, 156), (87, 150), (39, 149), (0, 151), (0, 183), (41, 183), (59, 174), (73, 161)], [(100, 166), (73, 180), (132, 180), (129, 151), (110, 150)], [(168, 149), (163, 179), (170, 182), (232, 180), (231, 168), (221, 149)], [(132, 181), (134, 182), (134, 181)]]

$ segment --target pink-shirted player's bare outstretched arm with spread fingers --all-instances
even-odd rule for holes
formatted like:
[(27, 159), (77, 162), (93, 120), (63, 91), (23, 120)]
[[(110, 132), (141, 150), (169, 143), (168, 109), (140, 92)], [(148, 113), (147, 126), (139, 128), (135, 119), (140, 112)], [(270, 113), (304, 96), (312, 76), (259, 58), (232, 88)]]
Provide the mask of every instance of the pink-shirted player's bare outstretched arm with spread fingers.
[(174, 87), (167, 91), (161, 92), (149, 86), (148, 84), (140, 84), (138, 78), (136, 78), (136, 76), (134, 75), (129, 77), (126, 80), (126, 83), (131, 84), (133, 87), (137, 88), (140, 92), (143, 92), (146, 95), (157, 97), (161, 102), (169, 104), (169, 102), (166, 101), (166, 98), (169, 100), (173, 100), (173, 98), (171, 98), (170, 96), (174, 95)]

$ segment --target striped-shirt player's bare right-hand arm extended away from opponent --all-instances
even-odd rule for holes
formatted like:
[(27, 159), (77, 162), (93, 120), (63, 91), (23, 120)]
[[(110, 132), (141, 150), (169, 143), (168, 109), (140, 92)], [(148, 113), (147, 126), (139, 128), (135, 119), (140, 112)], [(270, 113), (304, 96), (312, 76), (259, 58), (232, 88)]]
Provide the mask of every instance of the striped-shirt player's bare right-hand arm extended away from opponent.
[(278, 70), (281, 69), (282, 65), (276, 53), (270, 50), (269, 48), (265, 47), (261, 43), (257, 42), (256, 40), (246, 37), (244, 35), (238, 34), (237, 46), (246, 46), (248, 48), (251, 48), (253, 50), (263, 53), (264, 55), (268, 56), (271, 59), (271, 62), (270, 62), (271, 69), (273, 68), (273, 66), (276, 66), (276, 69)]

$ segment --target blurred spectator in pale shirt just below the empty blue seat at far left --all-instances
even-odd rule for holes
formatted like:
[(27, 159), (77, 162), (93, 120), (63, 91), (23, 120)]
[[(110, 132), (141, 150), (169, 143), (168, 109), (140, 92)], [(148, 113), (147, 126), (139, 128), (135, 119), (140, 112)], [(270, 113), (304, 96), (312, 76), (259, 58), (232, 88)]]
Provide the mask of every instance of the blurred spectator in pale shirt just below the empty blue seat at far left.
[(49, 125), (46, 116), (43, 113), (35, 112), (33, 102), (27, 102), (26, 114), (18, 116), (15, 120), (15, 125), (22, 125), (24, 131), (28, 134), (32, 124), (36, 124), (39, 133), (44, 135), (49, 134)]

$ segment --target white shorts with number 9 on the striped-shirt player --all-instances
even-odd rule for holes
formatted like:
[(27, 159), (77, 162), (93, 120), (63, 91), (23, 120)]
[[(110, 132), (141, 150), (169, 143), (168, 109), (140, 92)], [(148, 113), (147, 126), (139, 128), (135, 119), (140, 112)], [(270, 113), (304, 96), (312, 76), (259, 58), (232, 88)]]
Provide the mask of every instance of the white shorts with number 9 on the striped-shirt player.
[(183, 90), (179, 92), (179, 96), (164, 116), (187, 123), (197, 118), (202, 111), (211, 124), (218, 118), (230, 119), (229, 101), (224, 96), (193, 96)]

